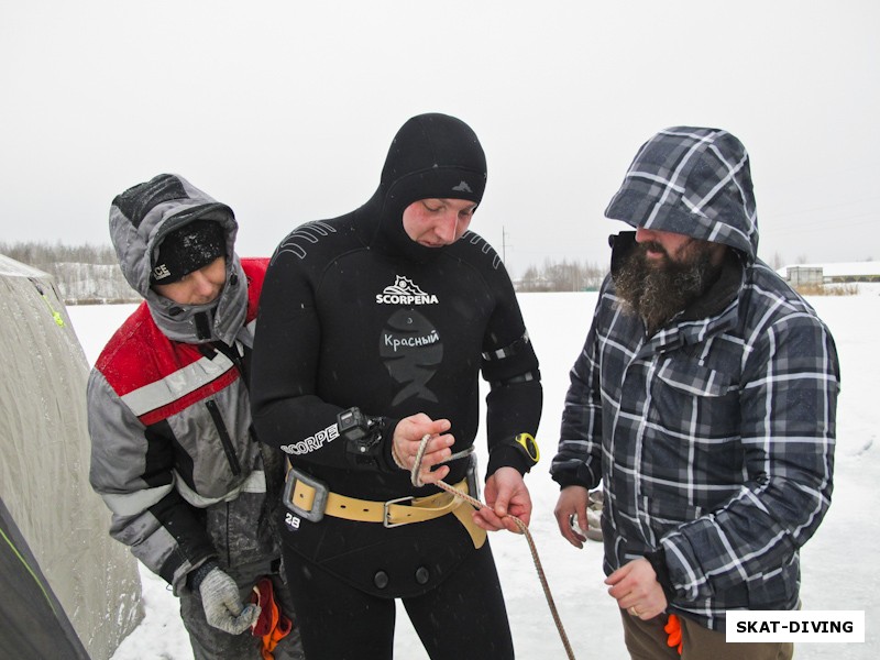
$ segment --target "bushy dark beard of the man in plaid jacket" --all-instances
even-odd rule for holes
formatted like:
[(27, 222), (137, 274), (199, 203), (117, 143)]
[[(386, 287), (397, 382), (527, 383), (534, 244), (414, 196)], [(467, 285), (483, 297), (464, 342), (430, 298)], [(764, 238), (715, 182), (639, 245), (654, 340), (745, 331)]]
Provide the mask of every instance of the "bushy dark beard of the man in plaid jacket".
[[(649, 262), (648, 249), (664, 256)], [(626, 311), (641, 318), (651, 337), (715, 283), (722, 266), (712, 261), (711, 244), (705, 241), (691, 243), (680, 262), (672, 261), (657, 243), (640, 243), (614, 277), (617, 297)]]

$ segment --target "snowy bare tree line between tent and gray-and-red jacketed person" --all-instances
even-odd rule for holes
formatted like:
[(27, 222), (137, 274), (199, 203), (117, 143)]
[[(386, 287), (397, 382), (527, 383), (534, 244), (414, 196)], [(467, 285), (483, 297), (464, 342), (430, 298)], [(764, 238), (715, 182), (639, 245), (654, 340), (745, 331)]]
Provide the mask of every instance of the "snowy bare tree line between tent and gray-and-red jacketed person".
[(0, 254), (52, 275), (65, 305), (136, 302), (111, 245), (47, 242), (6, 243)]

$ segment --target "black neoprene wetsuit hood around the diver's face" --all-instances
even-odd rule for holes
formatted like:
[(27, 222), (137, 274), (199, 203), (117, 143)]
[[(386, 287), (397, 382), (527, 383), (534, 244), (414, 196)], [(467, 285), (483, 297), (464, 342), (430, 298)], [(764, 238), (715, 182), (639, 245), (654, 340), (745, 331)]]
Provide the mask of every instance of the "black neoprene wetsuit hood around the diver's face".
[(424, 262), (443, 248), (426, 248), (404, 230), (404, 210), (419, 199), (466, 199), (480, 204), (486, 186), (486, 156), (474, 131), (454, 117), (419, 114), (392, 142), (382, 178), (359, 210), (366, 242), (383, 252)]

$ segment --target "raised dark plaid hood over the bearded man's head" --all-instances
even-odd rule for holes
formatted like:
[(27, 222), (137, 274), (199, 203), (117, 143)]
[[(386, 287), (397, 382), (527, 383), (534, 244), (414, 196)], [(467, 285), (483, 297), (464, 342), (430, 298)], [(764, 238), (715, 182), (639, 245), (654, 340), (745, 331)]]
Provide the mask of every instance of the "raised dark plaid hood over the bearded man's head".
[(674, 127), (641, 145), (605, 217), (758, 254), (749, 156), (721, 129)]

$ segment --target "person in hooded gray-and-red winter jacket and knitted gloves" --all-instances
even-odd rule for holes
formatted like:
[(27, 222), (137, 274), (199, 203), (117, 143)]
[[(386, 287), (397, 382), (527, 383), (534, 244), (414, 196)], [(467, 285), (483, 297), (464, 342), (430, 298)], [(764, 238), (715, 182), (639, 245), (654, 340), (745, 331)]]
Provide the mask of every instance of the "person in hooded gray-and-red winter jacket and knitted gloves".
[(144, 302), (89, 376), (90, 480), (111, 536), (180, 597), (196, 660), (298, 659), (272, 520), (284, 468), (248, 393), (267, 260), (239, 258), (237, 231), (180, 176), (113, 200), (110, 237)]

